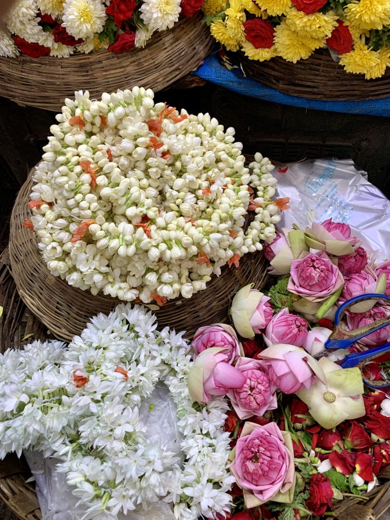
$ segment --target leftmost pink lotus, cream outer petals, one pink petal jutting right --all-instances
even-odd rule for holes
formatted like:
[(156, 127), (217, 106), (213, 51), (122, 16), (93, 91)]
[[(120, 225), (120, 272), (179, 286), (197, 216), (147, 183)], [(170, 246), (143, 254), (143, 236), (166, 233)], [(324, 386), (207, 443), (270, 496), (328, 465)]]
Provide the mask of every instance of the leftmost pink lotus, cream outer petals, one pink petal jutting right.
[(188, 374), (188, 391), (192, 399), (209, 402), (212, 396), (226, 395), (232, 388), (241, 388), (245, 376), (225, 361), (224, 348), (203, 350), (194, 360)]

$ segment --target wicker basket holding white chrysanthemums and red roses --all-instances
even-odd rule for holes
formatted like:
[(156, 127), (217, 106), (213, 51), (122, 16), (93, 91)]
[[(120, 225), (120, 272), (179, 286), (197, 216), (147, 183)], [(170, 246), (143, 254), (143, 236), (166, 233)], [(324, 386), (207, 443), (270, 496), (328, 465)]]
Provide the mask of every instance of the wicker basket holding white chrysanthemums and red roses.
[(115, 54), (99, 50), (69, 58), (0, 57), (0, 93), (19, 105), (61, 111), (75, 90), (102, 92), (135, 85), (161, 90), (196, 69), (213, 46), (202, 16), (183, 18), (155, 33), (144, 49)]

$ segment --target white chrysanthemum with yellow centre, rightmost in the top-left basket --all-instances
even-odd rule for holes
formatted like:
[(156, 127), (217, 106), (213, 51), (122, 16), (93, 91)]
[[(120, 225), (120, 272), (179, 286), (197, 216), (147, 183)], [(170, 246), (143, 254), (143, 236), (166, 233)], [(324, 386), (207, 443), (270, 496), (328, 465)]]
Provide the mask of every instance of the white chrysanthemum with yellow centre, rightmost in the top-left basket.
[(140, 7), (141, 18), (150, 31), (172, 29), (179, 19), (180, 0), (146, 0)]

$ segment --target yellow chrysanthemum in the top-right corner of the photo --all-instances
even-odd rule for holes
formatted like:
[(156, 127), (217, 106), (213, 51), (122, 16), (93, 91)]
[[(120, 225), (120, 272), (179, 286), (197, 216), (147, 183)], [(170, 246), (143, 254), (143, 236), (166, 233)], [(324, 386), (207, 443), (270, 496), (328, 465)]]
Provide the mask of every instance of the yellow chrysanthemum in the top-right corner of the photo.
[(346, 23), (358, 29), (383, 29), (390, 25), (388, 0), (352, 0), (344, 9)]

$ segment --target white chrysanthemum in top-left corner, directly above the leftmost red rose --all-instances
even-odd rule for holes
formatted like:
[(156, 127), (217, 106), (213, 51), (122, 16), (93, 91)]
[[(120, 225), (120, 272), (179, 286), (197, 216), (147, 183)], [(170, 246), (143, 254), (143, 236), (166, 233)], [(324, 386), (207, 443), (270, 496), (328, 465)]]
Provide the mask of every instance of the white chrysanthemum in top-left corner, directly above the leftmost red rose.
[(19, 0), (8, 10), (4, 19), (7, 29), (27, 42), (37, 42), (42, 32), (37, 12), (34, 0)]

